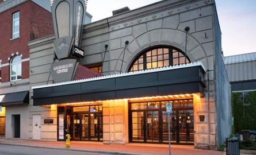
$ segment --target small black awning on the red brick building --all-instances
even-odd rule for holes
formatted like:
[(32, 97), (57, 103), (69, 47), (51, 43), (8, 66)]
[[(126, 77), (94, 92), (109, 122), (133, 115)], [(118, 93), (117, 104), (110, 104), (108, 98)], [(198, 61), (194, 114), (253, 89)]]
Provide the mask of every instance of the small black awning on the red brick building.
[(13, 92), (0, 95), (0, 106), (10, 106), (16, 104), (28, 104), (29, 91)]

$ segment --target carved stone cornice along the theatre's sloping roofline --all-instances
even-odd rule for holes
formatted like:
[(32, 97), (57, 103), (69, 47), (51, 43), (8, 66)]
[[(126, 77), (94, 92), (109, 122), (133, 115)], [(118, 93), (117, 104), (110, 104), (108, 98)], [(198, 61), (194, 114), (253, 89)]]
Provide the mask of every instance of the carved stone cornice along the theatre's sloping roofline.
[(110, 26), (109, 30), (122, 29), (128, 26), (161, 19), (170, 15), (212, 5), (213, 0), (166, 0), (140, 7), (125, 13), (117, 14), (100, 21), (92, 22), (84, 27), (84, 32)]

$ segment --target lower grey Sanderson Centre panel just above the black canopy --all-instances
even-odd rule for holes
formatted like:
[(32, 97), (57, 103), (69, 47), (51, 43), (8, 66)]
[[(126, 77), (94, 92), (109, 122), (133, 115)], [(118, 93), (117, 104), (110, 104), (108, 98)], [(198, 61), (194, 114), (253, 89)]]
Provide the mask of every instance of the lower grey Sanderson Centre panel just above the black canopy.
[(77, 68), (77, 60), (64, 59), (51, 64), (51, 75), (55, 83), (72, 80)]

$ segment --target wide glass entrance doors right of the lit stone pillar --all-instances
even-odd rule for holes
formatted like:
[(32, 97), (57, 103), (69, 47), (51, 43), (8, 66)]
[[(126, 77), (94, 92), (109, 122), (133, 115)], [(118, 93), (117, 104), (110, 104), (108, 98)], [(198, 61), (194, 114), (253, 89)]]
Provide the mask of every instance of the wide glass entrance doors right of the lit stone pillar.
[(166, 103), (173, 103), (170, 137), (173, 144), (194, 143), (193, 100), (139, 102), (129, 105), (129, 141), (168, 143)]

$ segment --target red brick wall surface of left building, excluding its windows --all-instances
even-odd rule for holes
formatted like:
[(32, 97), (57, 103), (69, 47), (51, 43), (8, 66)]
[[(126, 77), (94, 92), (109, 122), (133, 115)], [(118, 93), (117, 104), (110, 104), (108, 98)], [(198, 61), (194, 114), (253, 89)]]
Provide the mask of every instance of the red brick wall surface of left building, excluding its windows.
[[(12, 15), (16, 11), (20, 11), (20, 38), (12, 40)], [(16, 52), (22, 54), (22, 60), (29, 58), (28, 42), (53, 33), (51, 13), (32, 1), (0, 13), (1, 64), (10, 63), (8, 57)], [(9, 65), (2, 67), (1, 76), (2, 83), (10, 81)], [(22, 79), (26, 78), (29, 78), (29, 61), (22, 62)]]

